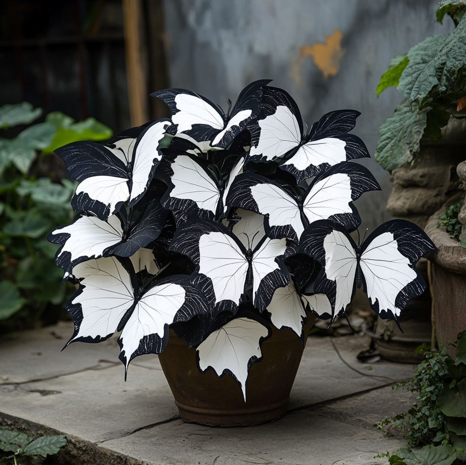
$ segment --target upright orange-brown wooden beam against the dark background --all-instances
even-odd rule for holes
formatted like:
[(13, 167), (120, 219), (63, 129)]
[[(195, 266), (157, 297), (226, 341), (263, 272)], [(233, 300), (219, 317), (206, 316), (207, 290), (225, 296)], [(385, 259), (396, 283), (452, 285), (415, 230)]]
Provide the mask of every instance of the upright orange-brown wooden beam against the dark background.
[(123, 0), (126, 76), (132, 126), (140, 126), (149, 120), (147, 53), (145, 51), (144, 28), (141, 17), (141, 0)]

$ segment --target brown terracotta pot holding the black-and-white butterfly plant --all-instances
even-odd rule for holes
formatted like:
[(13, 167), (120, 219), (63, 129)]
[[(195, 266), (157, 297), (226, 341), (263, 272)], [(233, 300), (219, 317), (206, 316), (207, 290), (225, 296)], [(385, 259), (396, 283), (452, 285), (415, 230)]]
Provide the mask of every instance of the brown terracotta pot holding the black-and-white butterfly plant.
[[(314, 321), (309, 316), (306, 339)], [(232, 376), (219, 378), (211, 368), (201, 373), (196, 349), (189, 348), (171, 330), (159, 360), (181, 418), (208, 426), (251, 426), (282, 417), (304, 345), (291, 330), (274, 328), (261, 348), (262, 361), (253, 363), (249, 371), (245, 402)]]

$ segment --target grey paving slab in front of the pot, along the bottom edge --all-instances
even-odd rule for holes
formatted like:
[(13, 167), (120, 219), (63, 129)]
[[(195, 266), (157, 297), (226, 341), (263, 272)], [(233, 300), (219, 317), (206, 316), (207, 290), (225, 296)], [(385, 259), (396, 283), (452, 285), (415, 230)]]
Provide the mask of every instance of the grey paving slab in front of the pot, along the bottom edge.
[(302, 410), (249, 428), (208, 428), (176, 420), (103, 445), (152, 465), (362, 465), (386, 464), (374, 456), (402, 443), (375, 428)]

